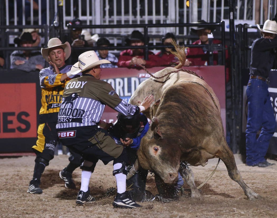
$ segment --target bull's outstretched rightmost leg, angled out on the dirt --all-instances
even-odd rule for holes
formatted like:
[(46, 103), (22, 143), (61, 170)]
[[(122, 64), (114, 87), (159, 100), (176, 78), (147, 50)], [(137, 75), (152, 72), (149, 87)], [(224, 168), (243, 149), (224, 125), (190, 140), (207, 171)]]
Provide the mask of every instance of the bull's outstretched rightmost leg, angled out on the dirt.
[(254, 200), (260, 197), (243, 181), (242, 176), (240, 175), (240, 172), (237, 169), (234, 155), (226, 142), (225, 145), (222, 147), (222, 150), (219, 151), (217, 157), (219, 157), (224, 162), (225, 166), (227, 167), (230, 178), (236, 181), (238, 184), (240, 184), (245, 195), (248, 197), (249, 200)]

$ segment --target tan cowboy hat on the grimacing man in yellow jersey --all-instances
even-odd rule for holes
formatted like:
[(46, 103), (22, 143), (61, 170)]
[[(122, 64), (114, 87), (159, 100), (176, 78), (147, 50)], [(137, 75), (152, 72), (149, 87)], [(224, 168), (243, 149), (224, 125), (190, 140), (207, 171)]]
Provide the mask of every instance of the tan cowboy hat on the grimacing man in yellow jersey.
[(48, 55), (49, 55), (49, 49), (50, 48), (54, 48), (54, 47), (62, 47), (63, 50), (65, 51), (65, 60), (67, 60), (67, 58), (69, 58), (70, 54), (71, 54), (71, 47), (70, 44), (68, 42), (65, 42), (64, 44), (61, 43), (61, 40), (58, 38), (52, 38), (48, 41), (47, 44), (47, 48), (41, 48), (41, 54), (42, 57), (49, 62), (50, 60), (48, 59)]

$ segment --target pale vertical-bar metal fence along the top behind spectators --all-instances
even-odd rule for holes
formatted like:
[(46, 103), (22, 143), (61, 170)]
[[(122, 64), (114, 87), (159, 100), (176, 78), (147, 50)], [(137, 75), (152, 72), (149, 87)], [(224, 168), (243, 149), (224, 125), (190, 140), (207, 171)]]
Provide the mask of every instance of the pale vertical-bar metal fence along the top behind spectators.
[[(231, 1), (231, 0), (230, 0)], [(233, 0), (234, 19), (262, 24), (276, 13), (277, 0)], [(61, 25), (78, 17), (86, 25), (220, 22), (229, 19), (226, 0), (0, 0), (1, 25)], [(262, 9), (262, 10), (260, 10)], [(60, 16), (60, 17), (59, 17)], [(186, 27), (152, 29), (151, 34), (176, 32), (186, 35)], [(130, 29), (101, 29), (101, 34), (126, 34)], [(180, 33), (179, 33), (180, 32)]]

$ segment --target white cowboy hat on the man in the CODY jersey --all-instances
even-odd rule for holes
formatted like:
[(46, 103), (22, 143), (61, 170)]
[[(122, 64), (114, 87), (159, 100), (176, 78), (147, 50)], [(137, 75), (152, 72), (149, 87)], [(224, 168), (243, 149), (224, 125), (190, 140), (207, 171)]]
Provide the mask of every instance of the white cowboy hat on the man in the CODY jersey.
[(97, 65), (104, 63), (111, 63), (108, 60), (99, 60), (98, 56), (94, 51), (87, 51), (79, 55), (78, 62), (75, 63), (70, 70), (72, 75), (76, 75), (85, 70), (89, 70)]

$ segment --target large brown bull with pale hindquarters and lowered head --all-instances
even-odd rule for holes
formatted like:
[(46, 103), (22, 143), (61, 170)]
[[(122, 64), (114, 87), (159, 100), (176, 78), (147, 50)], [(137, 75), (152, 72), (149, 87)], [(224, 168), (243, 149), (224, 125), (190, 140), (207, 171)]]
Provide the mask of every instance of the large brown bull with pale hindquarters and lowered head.
[[(154, 75), (161, 76), (174, 70), (168, 67)], [(208, 159), (217, 157), (225, 163), (230, 178), (240, 184), (250, 200), (259, 197), (245, 184), (237, 169), (225, 140), (219, 101), (205, 81), (181, 71), (163, 79), (150, 78), (139, 85), (130, 103), (137, 104), (150, 94), (161, 100), (151, 128), (141, 140), (135, 169), (141, 166), (154, 171), (165, 183), (173, 184), (181, 161), (205, 166)], [(191, 196), (201, 198), (191, 170), (184, 179), (191, 188)]]

